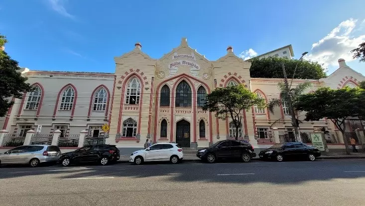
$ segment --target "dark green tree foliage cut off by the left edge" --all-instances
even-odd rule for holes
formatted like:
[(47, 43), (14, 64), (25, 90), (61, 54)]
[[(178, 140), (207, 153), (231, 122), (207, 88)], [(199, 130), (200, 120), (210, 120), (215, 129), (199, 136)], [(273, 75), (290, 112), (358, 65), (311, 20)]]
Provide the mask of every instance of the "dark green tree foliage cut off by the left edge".
[[(6, 38), (0, 35), (0, 48), (6, 43)], [(6, 115), (7, 110), (14, 104), (11, 97), (22, 98), (24, 92), (31, 91), (31, 87), (25, 81), (20, 72), (18, 62), (11, 59), (9, 55), (0, 49), (0, 117)]]

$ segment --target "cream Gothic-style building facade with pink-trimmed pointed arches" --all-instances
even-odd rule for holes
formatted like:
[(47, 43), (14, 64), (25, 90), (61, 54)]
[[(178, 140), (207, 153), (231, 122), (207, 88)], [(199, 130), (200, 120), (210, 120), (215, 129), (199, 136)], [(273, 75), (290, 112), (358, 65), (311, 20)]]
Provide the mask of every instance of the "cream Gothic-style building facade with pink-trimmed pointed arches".
[[(206, 95), (215, 88), (243, 84), (266, 101), (279, 98), (277, 84), (283, 79), (250, 78), (251, 63), (237, 57), (232, 46), (214, 61), (189, 47), (186, 38), (159, 59), (151, 58), (141, 47), (136, 43), (133, 50), (115, 57), (115, 73), (24, 70), (35, 90), (15, 100), (1, 120), (2, 129), (23, 135), (42, 125), (41, 133), (60, 130), (61, 136), (87, 130), (88, 137), (108, 137), (107, 144), (130, 150), (143, 148), (146, 139), (202, 148), (236, 135), (230, 118), (220, 120), (202, 110)], [(290, 48), (277, 51), (287, 49), (291, 58)], [(353, 87), (365, 80), (343, 59), (339, 63), (340, 68), (328, 78), (294, 79), (293, 86), (310, 81), (313, 87), (306, 92), (311, 92), (323, 86)], [(298, 116), (304, 119), (304, 115)], [(286, 104), (274, 113), (252, 107), (242, 117), (239, 138), (258, 148), (275, 142), (261, 141), (270, 139), (272, 130), (293, 130)], [(110, 126), (107, 135), (101, 129), (104, 124)], [(300, 124), (301, 132), (321, 128), (336, 132), (327, 119)]]

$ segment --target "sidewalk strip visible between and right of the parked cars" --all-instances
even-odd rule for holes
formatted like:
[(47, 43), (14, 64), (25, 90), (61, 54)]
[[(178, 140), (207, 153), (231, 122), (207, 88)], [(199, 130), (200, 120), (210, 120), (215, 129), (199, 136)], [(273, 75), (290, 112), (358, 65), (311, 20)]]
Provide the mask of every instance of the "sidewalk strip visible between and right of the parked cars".
[[(254, 160), (259, 160), (258, 156), (253, 158)], [(351, 153), (351, 155), (347, 155), (346, 153), (330, 153), (329, 155), (321, 155), (317, 159), (365, 159), (365, 153)], [(120, 162), (128, 162), (129, 155), (121, 155)], [(194, 154), (186, 154), (184, 155), (184, 162), (192, 162), (192, 161), (200, 161)]]

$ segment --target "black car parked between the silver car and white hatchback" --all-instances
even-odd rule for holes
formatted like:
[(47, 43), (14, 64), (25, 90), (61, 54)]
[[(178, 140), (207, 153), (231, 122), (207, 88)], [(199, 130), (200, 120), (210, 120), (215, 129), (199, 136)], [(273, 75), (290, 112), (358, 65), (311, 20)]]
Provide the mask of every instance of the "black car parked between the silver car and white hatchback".
[(62, 166), (82, 162), (99, 162), (101, 165), (107, 165), (110, 162), (117, 162), (119, 158), (119, 149), (115, 145), (88, 145), (62, 154), (59, 163)]

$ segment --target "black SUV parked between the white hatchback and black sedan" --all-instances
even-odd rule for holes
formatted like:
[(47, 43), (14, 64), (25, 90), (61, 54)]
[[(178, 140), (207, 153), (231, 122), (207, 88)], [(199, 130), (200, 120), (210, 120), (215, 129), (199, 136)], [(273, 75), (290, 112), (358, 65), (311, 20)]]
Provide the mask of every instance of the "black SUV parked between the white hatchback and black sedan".
[(243, 162), (250, 162), (253, 157), (256, 157), (256, 153), (251, 144), (245, 140), (223, 140), (198, 150), (196, 156), (209, 163), (214, 163), (217, 159), (231, 158), (241, 158)]

